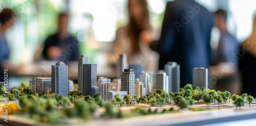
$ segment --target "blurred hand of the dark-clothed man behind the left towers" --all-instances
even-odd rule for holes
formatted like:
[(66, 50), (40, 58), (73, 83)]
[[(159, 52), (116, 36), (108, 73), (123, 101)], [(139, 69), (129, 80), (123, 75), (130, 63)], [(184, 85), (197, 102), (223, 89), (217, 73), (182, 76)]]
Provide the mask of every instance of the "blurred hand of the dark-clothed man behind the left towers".
[(47, 58), (49, 60), (58, 60), (61, 49), (57, 46), (52, 46), (47, 50)]

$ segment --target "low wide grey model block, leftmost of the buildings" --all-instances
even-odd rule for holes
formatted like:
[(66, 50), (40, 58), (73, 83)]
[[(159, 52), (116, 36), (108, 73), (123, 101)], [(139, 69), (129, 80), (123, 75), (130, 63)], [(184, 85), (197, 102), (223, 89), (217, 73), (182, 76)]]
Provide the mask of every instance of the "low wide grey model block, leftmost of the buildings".
[(29, 80), (29, 88), (33, 89), (36, 93), (52, 90), (52, 78), (35, 77), (34, 80)]

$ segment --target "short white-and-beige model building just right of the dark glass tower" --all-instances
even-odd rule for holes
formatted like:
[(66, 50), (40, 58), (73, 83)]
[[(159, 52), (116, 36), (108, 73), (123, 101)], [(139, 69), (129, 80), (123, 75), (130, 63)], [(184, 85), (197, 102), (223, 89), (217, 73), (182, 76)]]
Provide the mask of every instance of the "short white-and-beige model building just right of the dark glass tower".
[(116, 91), (116, 86), (117, 84), (116, 83), (111, 83), (111, 82), (108, 82), (108, 83), (99, 83), (99, 89), (100, 89), (100, 95), (101, 95), (101, 98), (106, 101), (106, 92), (108, 91)]

